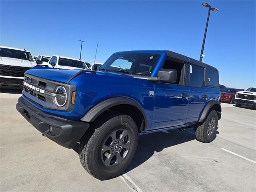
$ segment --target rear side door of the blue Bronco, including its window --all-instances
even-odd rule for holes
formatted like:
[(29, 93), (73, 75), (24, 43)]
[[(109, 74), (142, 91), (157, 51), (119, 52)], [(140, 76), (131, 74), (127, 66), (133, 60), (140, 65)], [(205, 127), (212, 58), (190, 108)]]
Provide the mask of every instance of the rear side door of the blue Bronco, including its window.
[(189, 65), (189, 106), (186, 123), (197, 122), (207, 103), (209, 94), (205, 90), (205, 68)]

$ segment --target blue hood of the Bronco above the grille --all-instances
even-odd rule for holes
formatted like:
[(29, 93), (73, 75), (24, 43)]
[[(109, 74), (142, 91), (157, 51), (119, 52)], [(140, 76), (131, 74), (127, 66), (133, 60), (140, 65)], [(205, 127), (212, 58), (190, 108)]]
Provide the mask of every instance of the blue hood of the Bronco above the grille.
[[(33, 76), (37, 76), (40, 78), (45, 78), (53, 81), (58, 81), (58, 82), (66, 82), (72, 76), (75, 76), (76, 74), (78, 74), (80, 71), (83, 71), (85, 73), (90, 73), (90, 74), (94, 73), (94, 75), (100, 75), (100, 76), (120, 76), (123, 78), (132, 78), (131, 76), (128, 76), (128, 75), (112, 73), (112, 72), (83, 70), (81, 68), (74, 69), (74, 70), (67, 70), (67, 69), (48, 68), (48, 67), (40, 67), (40, 66), (27, 70), (25, 74), (30, 74)], [(83, 75), (87, 75), (85, 73)]]

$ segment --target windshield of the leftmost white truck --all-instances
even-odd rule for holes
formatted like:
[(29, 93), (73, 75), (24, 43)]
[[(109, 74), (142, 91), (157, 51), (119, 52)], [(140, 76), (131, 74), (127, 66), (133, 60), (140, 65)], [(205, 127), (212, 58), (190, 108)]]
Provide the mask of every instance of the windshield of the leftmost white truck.
[(0, 56), (34, 61), (30, 52), (15, 49), (0, 48)]

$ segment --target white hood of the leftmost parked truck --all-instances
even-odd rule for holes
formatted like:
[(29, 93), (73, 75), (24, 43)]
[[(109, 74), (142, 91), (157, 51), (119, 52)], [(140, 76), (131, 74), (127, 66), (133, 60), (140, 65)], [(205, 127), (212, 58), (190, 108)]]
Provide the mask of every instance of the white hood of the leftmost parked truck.
[(17, 66), (17, 67), (34, 67), (36, 66), (36, 62), (17, 59), (17, 58), (9, 58), (9, 57), (0, 57), (0, 64), (9, 65), (9, 66)]

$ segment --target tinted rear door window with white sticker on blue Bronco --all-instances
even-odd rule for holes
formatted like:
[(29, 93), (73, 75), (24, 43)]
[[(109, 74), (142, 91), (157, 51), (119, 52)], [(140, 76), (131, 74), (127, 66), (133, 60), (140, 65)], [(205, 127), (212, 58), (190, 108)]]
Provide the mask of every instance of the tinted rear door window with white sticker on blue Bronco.
[(204, 84), (204, 68), (190, 65), (189, 86), (202, 87)]

